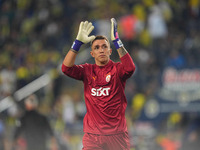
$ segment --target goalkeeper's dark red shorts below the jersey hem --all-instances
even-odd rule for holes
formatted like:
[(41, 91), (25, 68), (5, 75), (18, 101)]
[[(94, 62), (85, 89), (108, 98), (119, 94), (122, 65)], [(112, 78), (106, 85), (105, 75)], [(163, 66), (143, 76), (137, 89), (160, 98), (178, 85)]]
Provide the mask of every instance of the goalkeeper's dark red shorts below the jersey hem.
[(112, 135), (85, 133), (82, 150), (130, 150), (129, 136), (127, 132)]

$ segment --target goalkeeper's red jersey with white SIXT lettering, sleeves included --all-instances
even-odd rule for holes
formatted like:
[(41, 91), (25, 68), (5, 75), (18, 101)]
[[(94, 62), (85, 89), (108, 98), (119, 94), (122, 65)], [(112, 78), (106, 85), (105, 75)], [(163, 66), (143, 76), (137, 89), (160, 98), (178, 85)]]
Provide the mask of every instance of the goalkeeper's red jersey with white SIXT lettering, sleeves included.
[(73, 67), (62, 65), (65, 75), (84, 83), (87, 108), (83, 120), (84, 132), (109, 135), (127, 131), (124, 89), (135, 65), (128, 53), (120, 59), (121, 62), (117, 63), (109, 60), (105, 66), (87, 63)]

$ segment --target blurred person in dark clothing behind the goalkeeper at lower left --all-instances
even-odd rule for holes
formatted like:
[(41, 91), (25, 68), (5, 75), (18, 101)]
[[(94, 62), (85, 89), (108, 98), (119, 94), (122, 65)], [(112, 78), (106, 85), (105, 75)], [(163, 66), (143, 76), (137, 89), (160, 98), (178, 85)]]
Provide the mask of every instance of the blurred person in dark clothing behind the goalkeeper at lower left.
[(27, 143), (27, 150), (47, 150), (47, 140), (51, 137), (52, 149), (56, 147), (56, 139), (47, 117), (37, 112), (38, 100), (36, 95), (30, 95), (25, 100), (26, 111), (19, 119), (14, 133), (13, 148), (22, 133)]

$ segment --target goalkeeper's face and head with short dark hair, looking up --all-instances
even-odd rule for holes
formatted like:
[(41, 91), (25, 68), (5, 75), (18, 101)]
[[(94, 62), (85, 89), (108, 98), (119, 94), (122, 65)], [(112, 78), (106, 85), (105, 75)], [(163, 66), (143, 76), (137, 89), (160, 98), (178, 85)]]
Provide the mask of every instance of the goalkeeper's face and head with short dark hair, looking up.
[(98, 39), (92, 44), (92, 51), (90, 54), (95, 59), (98, 66), (106, 65), (110, 60), (112, 49), (105, 39)]

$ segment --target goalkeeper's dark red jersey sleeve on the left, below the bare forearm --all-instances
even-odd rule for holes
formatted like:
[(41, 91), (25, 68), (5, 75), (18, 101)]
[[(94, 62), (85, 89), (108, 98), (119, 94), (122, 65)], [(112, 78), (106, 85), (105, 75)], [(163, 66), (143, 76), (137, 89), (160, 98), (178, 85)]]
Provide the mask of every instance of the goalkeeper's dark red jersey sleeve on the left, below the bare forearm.
[(62, 72), (76, 80), (83, 80), (84, 78), (84, 65), (74, 65), (72, 67), (67, 67), (62, 64)]

